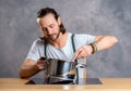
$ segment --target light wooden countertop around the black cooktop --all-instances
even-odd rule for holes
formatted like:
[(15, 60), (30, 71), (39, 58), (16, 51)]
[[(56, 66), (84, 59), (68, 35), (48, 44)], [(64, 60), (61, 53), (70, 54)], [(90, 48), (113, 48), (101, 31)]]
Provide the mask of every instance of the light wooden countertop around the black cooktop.
[(25, 84), (28, 79), (0, 78), (0, 91), (131, 91), (131, 78), (99, 78), (103, 84)]

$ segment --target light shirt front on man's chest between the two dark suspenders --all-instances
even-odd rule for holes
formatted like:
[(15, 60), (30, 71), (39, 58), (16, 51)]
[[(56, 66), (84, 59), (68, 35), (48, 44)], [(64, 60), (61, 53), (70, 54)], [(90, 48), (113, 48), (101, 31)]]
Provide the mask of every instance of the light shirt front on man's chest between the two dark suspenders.
[(66, 46), (61, 49), (57, 49), (51, 44), (47, 44), (45, 48), (45, 55), (49, 58), (59, 58), (64, 61), (71, 61), (74, 53), (73, 43), (68, 40)]

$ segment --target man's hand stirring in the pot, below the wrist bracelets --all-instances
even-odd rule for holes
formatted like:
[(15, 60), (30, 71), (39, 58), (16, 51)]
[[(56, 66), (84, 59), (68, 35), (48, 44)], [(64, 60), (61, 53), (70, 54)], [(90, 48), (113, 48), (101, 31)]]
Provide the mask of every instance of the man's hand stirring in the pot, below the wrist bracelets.
[(79, 50), (76, 50), (75, 55), (76, 58), (84, 58), (92, 54), (92, 47), (91, 46), (83, 46)]

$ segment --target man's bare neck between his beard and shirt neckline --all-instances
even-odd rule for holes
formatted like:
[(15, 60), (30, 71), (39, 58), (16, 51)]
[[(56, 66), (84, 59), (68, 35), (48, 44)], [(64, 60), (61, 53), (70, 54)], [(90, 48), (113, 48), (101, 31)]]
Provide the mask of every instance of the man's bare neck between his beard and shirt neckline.
[(68, 32), (66, 34), (60, 32), (59, 38), (55, 41), (51, 41), (51, 44), (57, 49), (61, 49), (66, 46), (67, 40), (68, 40)]

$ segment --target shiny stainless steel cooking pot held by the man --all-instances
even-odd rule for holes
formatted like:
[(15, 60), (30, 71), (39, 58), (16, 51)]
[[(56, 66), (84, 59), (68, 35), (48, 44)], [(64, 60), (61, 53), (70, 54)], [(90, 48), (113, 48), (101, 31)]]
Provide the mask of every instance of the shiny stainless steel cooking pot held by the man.
[(46, 75), (50, 77), (63, 77), (68, 79), (74, 79), (75, 65), (75, 62), (48, 58), (46, 60)]

